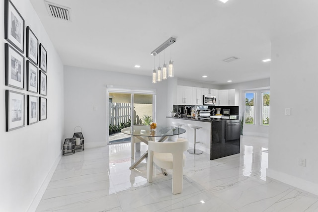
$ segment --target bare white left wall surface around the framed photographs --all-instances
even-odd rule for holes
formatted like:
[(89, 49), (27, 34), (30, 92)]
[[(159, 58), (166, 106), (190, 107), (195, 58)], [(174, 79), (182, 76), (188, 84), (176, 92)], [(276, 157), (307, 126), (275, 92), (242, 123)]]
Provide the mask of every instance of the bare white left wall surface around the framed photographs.
[[(0, 211), (35, 211), (50, 180), (52, 170), (61, 157), (64, 138), (63, 65), (46, 34), (42, 23), (28, 0), (12, 0), (48, 52), (47, 58), (47, 120), (5, 132), (5, 89), (33, 94), (4, 85), (4, 21), (0, 21)], [(0, 3), (4, 17), (4, 3)], [(24, 48), (25, 49), (25, 48)], [(23, 54), (24, 57), (26, 54)], [(26, 58), (25, 58), (26, 59)], [(25, 74), (26, 76), (26, 74)], [(24, 79), (26, 87), (26, 77)], [(26, 96), (25, 96), (26, 100)], [(26, 106), (26, 105), (25, 105)]]

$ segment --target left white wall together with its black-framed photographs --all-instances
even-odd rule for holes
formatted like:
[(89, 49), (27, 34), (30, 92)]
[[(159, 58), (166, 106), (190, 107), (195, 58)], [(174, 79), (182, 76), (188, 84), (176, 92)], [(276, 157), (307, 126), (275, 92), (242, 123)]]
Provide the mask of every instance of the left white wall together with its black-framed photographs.
[[(0, 138), (1, 156), (5, 158), (0, 161), (0, 212), (33, 212), (63, 155), (61, 146), (67, 136), (64, 64), (30, 0), (3, 0), (0, 16)], [(12, 25), (14, 16), (18, 30)], [(46, 96), (39, 89), (40, 43), (47, 54)]]

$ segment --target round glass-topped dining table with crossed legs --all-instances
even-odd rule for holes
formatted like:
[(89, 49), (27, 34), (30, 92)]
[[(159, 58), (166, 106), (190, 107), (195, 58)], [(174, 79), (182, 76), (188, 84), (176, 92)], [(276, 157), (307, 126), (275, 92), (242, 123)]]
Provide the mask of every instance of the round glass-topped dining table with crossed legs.
[[(156, 141), (156, 138), (159, 138), (158, 142), (163, 142), (170, 136), (177, 136), (186, 132), (183, 128), (171, 127), (171, 126), (160, 126), (158, 125), (155, 130), (151, 130), (150, 126), (147, 125), (133, 125), (121, 130), (122, 133), (135, 136), (140, 141), (148, 145), (148, 141), (145, 138), (148, 138), (151, 141)], [(133, 143), (131, 145), (134, 145)], [(134, 169), (143, 159), (148, 155), (146, 151), (137, 161), (135, 161), (129, 168)], [(164, 173), (166, 175), (166, 173)]]

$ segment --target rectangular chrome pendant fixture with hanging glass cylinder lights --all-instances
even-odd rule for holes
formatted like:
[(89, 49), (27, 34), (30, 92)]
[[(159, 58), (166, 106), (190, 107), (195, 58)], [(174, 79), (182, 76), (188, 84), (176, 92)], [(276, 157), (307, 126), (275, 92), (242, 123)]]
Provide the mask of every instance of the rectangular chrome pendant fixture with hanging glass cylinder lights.
[[(155, 49), (151, 55), (156, 56), (158, 55), (162, 50), (165, 50), (165, 48), (167, 48), (168, 46), (171, 46), (171, 44), (173, 44), (174, 42), (176, 42), (175, 38), (169, 38), (167, 41), (165, 41), (163, 44), (161, 44), (157, 49)], [(168, 68), (168, 70), (167, 70)], [(156, 71), (155, 68), (155, 59), (154, 59), (154, 70), (153, 70), (153, 83), (156, 83), (156, 81), (161, 81), (162, 79), (167, 79), (168, 77), (173, 77), (174, 76), (174, 71), (173, 71), (173, 61), (172, 61), (172, 48), (171, 48), (171, 54), (170, 54), (170, 61), (169, 61), (169, 65), (167, 67), (167, 65), (165, 64), (165, 52), (164, 52), (164, 64), (162, 66), (162, 70), (160, 68), (160, 58), (159, 58), (159, 67)]]

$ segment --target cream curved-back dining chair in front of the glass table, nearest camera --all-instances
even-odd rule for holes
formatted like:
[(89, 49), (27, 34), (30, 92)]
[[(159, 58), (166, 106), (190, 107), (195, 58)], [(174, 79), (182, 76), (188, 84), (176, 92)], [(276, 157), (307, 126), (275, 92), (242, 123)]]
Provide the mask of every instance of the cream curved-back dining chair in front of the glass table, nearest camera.
[(172, 169), (172, 194), (179, 194), (183, 187), (183, 166), (186, 157), (184, 151), (188, 149), (188, 140), (179, 138), (175, 142), (148, 143), (147, 180), (153, 182), (153, 167), (156, 163), (160, 168)]

